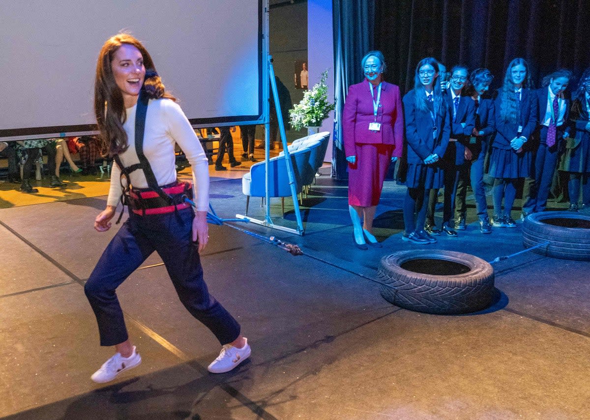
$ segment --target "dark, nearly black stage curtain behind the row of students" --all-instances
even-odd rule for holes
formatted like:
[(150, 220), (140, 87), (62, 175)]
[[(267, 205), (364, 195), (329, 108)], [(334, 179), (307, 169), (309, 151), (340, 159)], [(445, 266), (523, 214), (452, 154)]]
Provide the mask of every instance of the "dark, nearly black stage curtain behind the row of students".
[(523, 57), (536, 86), (559, 67), (579, 76), (590, 65), (588, 0), (375, 0), (375, 48), (386, 80), (414, 87), (415, 66), (435, 57), (447, 66), (487, 67), (501, 86), (507, 65)]

